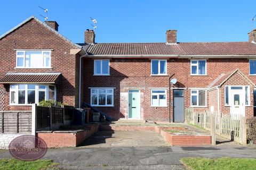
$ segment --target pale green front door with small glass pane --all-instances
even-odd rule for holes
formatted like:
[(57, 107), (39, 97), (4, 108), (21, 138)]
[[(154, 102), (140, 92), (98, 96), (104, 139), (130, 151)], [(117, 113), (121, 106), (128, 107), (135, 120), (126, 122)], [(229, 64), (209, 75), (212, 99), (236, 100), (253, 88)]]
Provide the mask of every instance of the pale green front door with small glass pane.
[(140, 118), (139, 90), (129, 90), (129, 118)]

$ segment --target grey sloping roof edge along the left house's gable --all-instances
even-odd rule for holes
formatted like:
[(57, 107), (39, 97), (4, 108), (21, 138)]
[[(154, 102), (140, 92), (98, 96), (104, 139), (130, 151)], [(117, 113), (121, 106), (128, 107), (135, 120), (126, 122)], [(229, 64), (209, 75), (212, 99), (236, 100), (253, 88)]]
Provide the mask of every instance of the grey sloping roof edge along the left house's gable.
[(0, 36), (0, 39), (4, 38), (6, 35), (9, 35), (9, 33), (11, 33), (12, 31), (14, 31), (15, 29), (21, 27), (21, 25), (27, 23), (28, 21), (30, 21), (31, 19), (35, 19), (37, 22), (41, 23), (42, 25), (44, 25), (44, 27), (48, 28), (49, 30), (51, 30), (52, 32), (56, 33), (59, 37), (61, 37), (62, 39), (68, 41), (68, 43), (70, 43), (71, 45), (82, 49), (82, 46), (73, 43), (71, 40), (69, 40), (68, 38), (66, 38), (65, 36), (61, 35), (58, 31), (56, 31), (55, 29), (53, 29), (52, 27), (50, 27), (49, 25), (47, 25), (46, 23), (40, 21), (38, 18), (36, 18), (36, 16), (30, 16), (29, 18), (27, 18), (25, 21), (21, 22), (20, 24), (18, 24), (16, 27), (13, 27), (12, 29), (10, 29), (9, 31), (5, 32), (2, 36)]

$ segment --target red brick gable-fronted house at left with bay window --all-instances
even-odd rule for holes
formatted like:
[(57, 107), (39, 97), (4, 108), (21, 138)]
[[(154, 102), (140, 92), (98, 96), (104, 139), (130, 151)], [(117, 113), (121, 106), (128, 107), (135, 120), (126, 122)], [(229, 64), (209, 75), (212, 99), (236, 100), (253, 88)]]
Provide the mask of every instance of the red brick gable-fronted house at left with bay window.
[(0, 37), (1, 110), (30, 110), (48, 99), (78, 106), (79, 56), (85, 52), (58, 26), (31, 16)]

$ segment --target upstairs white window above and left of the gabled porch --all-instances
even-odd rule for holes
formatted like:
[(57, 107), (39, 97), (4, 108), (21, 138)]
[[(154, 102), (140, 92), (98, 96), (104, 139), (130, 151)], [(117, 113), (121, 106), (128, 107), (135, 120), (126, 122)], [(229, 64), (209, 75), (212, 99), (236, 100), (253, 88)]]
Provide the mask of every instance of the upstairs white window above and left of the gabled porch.
[(207, 75), (206, 60), (191, 60), (190, 74), (191, 75)]

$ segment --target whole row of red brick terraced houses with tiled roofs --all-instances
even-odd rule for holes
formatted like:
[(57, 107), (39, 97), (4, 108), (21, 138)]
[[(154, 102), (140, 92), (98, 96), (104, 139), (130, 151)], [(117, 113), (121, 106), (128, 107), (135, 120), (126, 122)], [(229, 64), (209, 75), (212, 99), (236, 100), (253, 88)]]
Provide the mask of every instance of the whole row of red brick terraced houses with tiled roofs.
[(0, 37), (2, 110), (55, 99), (114, 120), (183, 122), (188, 107), (255, 116), (256, 30), (229, 43), (180, 43), (176, 30), (164, 43), (95, 43), (86, 30), (75, 44), (58, 26), (32, 16)]

